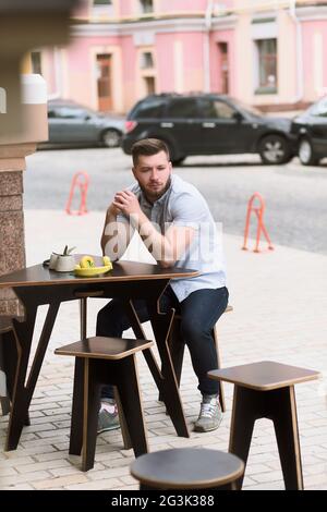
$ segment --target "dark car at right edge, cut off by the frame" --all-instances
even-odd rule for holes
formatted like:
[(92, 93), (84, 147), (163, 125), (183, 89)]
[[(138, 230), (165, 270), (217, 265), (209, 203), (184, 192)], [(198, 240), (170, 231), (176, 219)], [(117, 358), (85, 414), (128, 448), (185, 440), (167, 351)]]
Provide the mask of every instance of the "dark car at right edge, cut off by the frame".
[(293, 119), (292, 133), (304, 166), (314, 166), (327, 157), (327, 96)]

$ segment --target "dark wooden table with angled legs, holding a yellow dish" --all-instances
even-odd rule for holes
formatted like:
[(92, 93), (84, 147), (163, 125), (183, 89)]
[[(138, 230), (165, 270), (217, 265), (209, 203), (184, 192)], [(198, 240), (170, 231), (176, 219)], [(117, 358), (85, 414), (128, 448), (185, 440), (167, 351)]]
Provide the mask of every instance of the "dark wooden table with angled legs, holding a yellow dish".
[[(76, 258), (78, 259), (78, 256)], [(17, 366), (13, 389), (9, 390), (12, 397), (12, 410), (5, 450), (16, 449), (24, 424), (29, 424), (28, 407), (59, 306), (62, 302), (77, 298), (76, 294), (78, 295), (81, 292), (89, 293), (90, 296), (122, 300), (135, 337), (138, 339), (146, 339), (146, 337), (133, 307), (133, 300), (146, 300), (165, 375), (159, 370), (152, 350), (147, 349), (143, 353), (178, 435), (189, 437), (167, 343), (174, 310), (172, 309), (169, 314), (160, 314), (158, 300), (171, 278), (189, 278), (196, 275), (197, 272), (194, 270), (161, 269), (157, 265), (119, 261), (113, 264), (113, 269), (109, 273), (93, 278), (75, 277), (73, 272), (56, 272), (43, 265), (35, 265), (1, 276), (0, 289), (14, 289), (25, 308), (24, 321), (13, 320), (16, 346), (12, 346), (12, 357), (17, 357)], [(49, 309), (26, 380), (37, 308), (44, 304), (49, 304)]]

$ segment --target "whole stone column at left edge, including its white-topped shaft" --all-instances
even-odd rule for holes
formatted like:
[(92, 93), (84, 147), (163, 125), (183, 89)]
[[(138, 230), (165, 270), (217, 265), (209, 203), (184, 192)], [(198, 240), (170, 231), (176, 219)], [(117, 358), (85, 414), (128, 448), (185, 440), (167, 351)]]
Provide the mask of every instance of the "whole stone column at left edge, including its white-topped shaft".
[[(23, 130), (15, 135), (0, 135), (0, 276), (25, 267), (25, 158), (36, 150), (37, 142), (48, 139), (47, 88), (44, 78), (26, 74), (22, 76), (22, 89)], [(3, 314), (23, 314), (12, 290), (0, 290), (0, 315)]]

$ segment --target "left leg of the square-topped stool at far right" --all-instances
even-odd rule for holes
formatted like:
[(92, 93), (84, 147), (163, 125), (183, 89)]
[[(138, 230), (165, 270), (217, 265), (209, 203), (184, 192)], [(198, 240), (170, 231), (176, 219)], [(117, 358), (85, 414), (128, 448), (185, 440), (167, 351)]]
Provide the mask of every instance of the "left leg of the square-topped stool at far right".
[[(230, 426), (229, 452), (244, 462), (244, 473), (250, 451), (254, 423), (262, 417), (262, 392), (253, 389), (234, 387), (233, 410)], [(242, 488), (244, 475), (238, 480)]]

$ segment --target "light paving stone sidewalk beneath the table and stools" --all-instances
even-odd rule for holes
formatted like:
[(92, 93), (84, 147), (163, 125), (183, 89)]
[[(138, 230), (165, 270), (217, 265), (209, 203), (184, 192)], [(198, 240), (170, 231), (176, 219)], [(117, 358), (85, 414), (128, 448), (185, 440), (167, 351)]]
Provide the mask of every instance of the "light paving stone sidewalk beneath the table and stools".
[[(25, 212), (27, 265), (46, 259), (65, 244), (76, 252), (99, 254), (104, 217), (68, 217), (60, 211)], [(295, 387), (304, 486), (327, 489), (327, 258), (314, 253), (276, 246), (262, 254), (241, 251), (242, 240), (225, 235), (230, 303), (234, 310), (219, 320), (225, 366), (262, 359), (322, 371), (319, 381)], [(135, 246), (128, 255), (135, 259)], [(146, 254), (142, 253), (146, 258)], [(102, 300), (89, 301), (88, 328), (94, 334)], [(46, 307), (40, 308), (37, 331)], [(146, 326), (148, 337), (150, 328)], [(131, 332), (128, 333), (130, 336)], [(73, 361), (55, 356), (57, 346), (78, 339), (78, 305), (61, 306), (15, 451), (3, 452), (8, 417), (0, 416), (0, 489), (136, 489), (130, 476), (132, 450), (122, 449), (120, 431), (98, 436), (94, 470), (82, 473), (80, 458), (69, 455)], [(232, 386), (226, 385), (227, 407), (218, 430), (178, 438), (165, 409), (157, 401), (150, 374), (138, 357), (141, 388), (150, 451), (172, 447), (207, 447), (227, 451)], [(184, 362), (181, 394), (187, 423), (197, 417), (199, 393), (189, 355)], [(282, 489), (283, 481), (272, 424), (257, 422), (244, 479), (244, 489)]]

